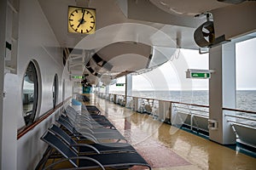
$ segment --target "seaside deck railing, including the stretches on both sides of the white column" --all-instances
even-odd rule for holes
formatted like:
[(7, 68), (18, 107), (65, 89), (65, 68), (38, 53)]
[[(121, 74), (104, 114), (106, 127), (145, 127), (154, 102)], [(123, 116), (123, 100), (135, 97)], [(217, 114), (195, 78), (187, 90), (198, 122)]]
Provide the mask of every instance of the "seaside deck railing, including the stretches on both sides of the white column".
[[(167, 122), (172, 126), (180, 127), (209, 135), (209, 106), (196, 105), (177, 101), (151, 99), (122, 94), (97, 94), (102, 99), (108, 99), (117, 105), (130, 108), (132, 111), (145, 113)], [(237, 109), (222, 108), (225, 122), (230, 123), (236, 133), (236, 139), (243, 144), (256, 147), (256, 111), (242, 111)]]

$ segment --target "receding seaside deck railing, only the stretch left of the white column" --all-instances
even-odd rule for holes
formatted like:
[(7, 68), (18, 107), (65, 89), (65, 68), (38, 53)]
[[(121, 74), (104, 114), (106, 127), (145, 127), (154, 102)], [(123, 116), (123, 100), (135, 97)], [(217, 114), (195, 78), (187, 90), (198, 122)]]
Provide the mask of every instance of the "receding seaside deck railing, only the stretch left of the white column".
[(188, 127), (197, 133), (208, 134), (207, 121), (209, 117), (209, 106), (207, 105), (195, 105), (137, 96), (126, 96), (125, 98), (125, 95), (122, 94), (98, 93), (97, 96), (117, 105), (130, 108), (132, 111), (148, 114), (161, 122), (167, 122), (173, 125), (177, 119), (181, 119), (183, 127)]

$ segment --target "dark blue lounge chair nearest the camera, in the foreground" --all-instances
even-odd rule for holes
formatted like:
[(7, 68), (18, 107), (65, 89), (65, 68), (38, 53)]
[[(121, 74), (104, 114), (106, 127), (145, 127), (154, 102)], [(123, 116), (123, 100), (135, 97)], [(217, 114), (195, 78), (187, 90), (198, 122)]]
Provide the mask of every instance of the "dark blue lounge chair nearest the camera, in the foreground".
[(59, 165), (63, 161), (70, 161), (73, 167), (79, 169), (114, 167), (118, 169), (133, 166), (145, 166), (151, 169), (147, 161), (143, 159), (137, 152), (121, 152), (108, 154), (94, 154), (79, 156), (75, 151), (68, 147), (61, 139), (57, 138), (53, 133), (47, 131), (41, 139), (57, 150), (64, 158), (50, 164), (44, 169), (51, 169), (55, 165)]

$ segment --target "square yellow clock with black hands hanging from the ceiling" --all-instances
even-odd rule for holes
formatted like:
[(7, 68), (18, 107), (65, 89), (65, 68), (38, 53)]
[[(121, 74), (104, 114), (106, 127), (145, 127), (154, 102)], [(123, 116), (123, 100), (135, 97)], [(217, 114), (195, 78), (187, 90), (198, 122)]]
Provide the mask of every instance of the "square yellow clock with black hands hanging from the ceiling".
[(93, 34), (96, 31), (96, 9), (68, 7), (69, 32)]

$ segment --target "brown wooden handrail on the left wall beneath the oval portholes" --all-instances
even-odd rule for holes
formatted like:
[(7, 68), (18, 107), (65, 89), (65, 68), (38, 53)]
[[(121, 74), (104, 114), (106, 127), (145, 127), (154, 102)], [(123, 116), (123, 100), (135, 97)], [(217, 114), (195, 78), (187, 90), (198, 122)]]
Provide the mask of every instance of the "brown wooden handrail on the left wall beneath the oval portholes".
[[(67, 98), (64, 102), (66, 102), (68, 99), (71, 99), (71, 97)], [(43, 122), (44, 119), (46, 119), (48, 116), (53, 114), (56, 110), (61, 108), (61, 106), (63, 105), (64, 102), (62, 101), (60, 104), (56, 105), (54, 109), (47, 111), (43, 116), (40, 116), (38, 118), (38, 120), (33, 122), (31, 125), (29, 125), (27, 127), (21, 127), (18, 130), (17, 139), (20, 139), (22, 136), (24, 136), (26, 133), (28, 133), (30, 130), (32, 130), (33, 127), (36, 127), (40, 122)]]

